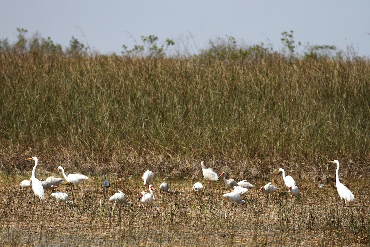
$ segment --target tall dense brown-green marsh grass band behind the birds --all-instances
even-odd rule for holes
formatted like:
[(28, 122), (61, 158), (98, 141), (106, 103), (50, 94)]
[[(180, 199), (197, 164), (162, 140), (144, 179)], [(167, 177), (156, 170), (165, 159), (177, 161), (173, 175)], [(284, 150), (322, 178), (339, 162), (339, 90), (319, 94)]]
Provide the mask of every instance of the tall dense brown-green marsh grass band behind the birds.
[(367, 60), (1, 54), (0, 84), (2, 170), (36, 155), (81, 172), (369, 171)]

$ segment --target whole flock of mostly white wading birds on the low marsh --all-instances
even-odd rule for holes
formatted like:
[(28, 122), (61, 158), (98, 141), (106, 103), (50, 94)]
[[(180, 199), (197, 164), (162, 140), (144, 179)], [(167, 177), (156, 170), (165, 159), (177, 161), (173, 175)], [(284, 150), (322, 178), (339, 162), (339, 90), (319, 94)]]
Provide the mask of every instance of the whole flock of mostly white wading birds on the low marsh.
[[(49, 190), (53, 191), (54, 188), (59, 187), (58, 185), (60, 185), (60, 183), (63, 182), (63, 179), (54, 178), (53, 176), (51, 176), (51, 177), (48, 177), (45, 181), (43, 181), (43, 179), (38, 180), (35, 177), (35, 171), (36, 171), (38, 159), (36, 157), (32, 157), (32, 158), (29, 158), (29, 159), (26, 159), (26, 160), (34, 160), (35, 165), (32, 169), (31, 179), (30, 180), (23, 180), (20, 184), (20, 187), (23, 188), (23, 189), (27, 189), (28, 187), (32, 186), (34, 194), (36, 196), (38, 196), (38, 198), (40, 200), (45, 199), (45, 190), (49, 189)], [(344, 186), (342, 183), (339, 182), (339, 161), (338, 160), (329, 160), (329, 162), (336, 163), (336, 165), (337, 165), (336, 186), (337, 186), (337, 191), (338, 191), (338, 194), (340, 196), (340, 199), (344, 200), (344, 202), (346, 202), (346, 201), (347, 202), (353, 202), (353, 200), (354, 200), (353, 193), (346, 186)], [(240, 203), (240, 204), (244, 204), (244, 205), (246, 204), (246, 201), (242, 200), (241, 196), (245, 195), (248, 192), (248, 189), (252, 189), (255, 186), (253, 186), (252, 184), (247, 182), (247, 180), (242, 180), (242, 181), (239, 181), (238, 183), (236, 183), (236, 181), (234, 179), (226, 179), (226, 173), (225, 172), (222, 172), (221, 175), (218, 175), (211, 168), (208, 168), (208, 166), (206, 166), (206, 164), (203, 161), (201, 162), (201, 166), (202, 166), (203, 177), (207, 180), (208, 187), (209, 187), (210, 182), (218, 182), (218, 180), (221, 177), (223, 177), (223, 182), (225, 183), (226, 188), (233, 190), (232, 192), (223, 194), (223, 197), (230, 200), (232, 202), (232, 206), (235, 203), (236, 204)], [(64, 169), (61, 166), (58, 166), (56, 171), (58, 171), (58, 170), (62, 171), (62, 174), (63, 174), (65, 180), (68, 183), (72, 183), (72, 184), (77, 185), (77, 186), (78, 186), (78, 183), (81, 183), (85, 179), (88, 179), (87, 176), (81, 175), (81, 174), (69, 174), (67, 176), (67, 175), (65, 175)], [(299, 196), (299, 188), (296, 185), (293, 177), (289, 176), (289, 175), (285, 176), (285, 170), (282, 169), (282, 168), (279, 168), (279, 172), (277, 172), (277, 174), (279, 174), (280, 172), (282, 172), (283, 180), (284, 180), (286, 188), (287, 188), (286, 192), (287, 193), (289, 192), (290, 195), (291, 195), (290, 200), (293, 199), (293, 196)], [(143, 206), (147, 205), (148, 208), (149, 208), (149, 205), (154, 202), (154, 198), (155, 198), (154, 197), (154, 192), (157, 193), (157, 190), (151, 184), (153, 179), (154, 179), (154, 173), (151, 170), (146, 170), (144, 172), (144, 174), (142, 175), (143, 185), (149, 189), (150, 193), (145, 193), (144, 191), (142, 191), (140, 193), (139, 200), (141, 199), (140, 200), (141, 204)], [(104, 173), (104, 183), (103, 183), (103, 185), (106, 188), (108, 188), (110, 186), (110, 182), (106, 178), (105, 173)], [(168, 184), (165, 183), (165, 182), (161, 183), (161, 185), (159, 186), (159, 189), (163, 193), (169, 193), (171, 195), (173, 194), (173, 192), (171, 190), (169, 190)], [(196, 193), (202, 192), (203, 191), (203, 185), (199, 182), (196, 182), (193, 185), (193, 190)], [(273, 194), (273, 193), (275, 193), (275, 195), (276, 195), (277, 190), (278, 190), (278, 188), (276, 186), (272, 185), (271, 182), (270, 182), (270, 183), (268, 183), (265, 186), (262, 186), (260, 188), (257, 197), (259, 197), (259, 194), (261, 192), (263, 194)], [(157, 195), (158, 195), (158, 193), (157, 193)], [(250, 195), (252, 196), (252, 194), (250, 194)], [(69, 201), (68, 194), (66, 194), (66, 193), (54, 192), (54, 193), (51, 193), (51, 196), (53, 196), (55, 198), (55, 200), (57, 200), (58, 202), (65, 202), (65, 203), (73, 204), (72, 201)], [(127, 197), (126, 197), (125, 193), (123, 193), (121, 190), (118, 190), (118, 192), (115, 193), (114, 195), (112, 195), (109, 200), (112, 201), (112, 202), (115, 202), (115, 203), (128, 204), (130, 206), (133, 205), (132, 202), (127, 201)]]

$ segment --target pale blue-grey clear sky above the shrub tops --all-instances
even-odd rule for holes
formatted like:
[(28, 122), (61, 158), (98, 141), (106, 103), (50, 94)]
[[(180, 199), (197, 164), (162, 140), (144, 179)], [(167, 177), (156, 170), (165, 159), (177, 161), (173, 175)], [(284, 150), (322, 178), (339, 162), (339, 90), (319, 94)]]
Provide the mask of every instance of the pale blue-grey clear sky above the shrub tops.
[(310, 45), (347, 47), (370, 56), (370, 1), (1, 1), (0, 39), (17, 40), (16, 28), (51, 37), (64, 48), (74, 36), (92, 50), (120, 54), (141, 36), (170, 38), (175, 49), (197, 53), (226, 35), (240, 43), (271, 44), (280, 51), (283, 31)]

